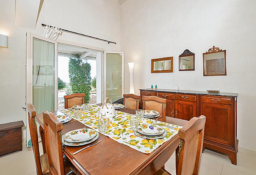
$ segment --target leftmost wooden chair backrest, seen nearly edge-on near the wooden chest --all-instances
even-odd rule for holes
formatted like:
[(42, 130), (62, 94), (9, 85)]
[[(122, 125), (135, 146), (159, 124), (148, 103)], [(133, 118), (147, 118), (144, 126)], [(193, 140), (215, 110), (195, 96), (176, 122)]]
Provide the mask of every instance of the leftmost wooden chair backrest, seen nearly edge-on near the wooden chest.
[(43, 175), (42, 167), (40, 163), (39, 143), (36, 125), (36, 110), (32, 104), (27, 104), (28, 120), (29, 120), (29, 131), (32, 142), (32, 148), (36, 161), (36, 172), (37, 175)]

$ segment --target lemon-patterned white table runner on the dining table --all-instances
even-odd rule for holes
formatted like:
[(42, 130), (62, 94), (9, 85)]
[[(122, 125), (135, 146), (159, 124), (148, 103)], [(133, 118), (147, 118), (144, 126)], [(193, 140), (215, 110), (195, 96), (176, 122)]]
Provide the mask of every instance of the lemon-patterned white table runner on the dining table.
[[(78, 121), (98, 131), (97, 114), (100, 107), (97, 105), (91, 105), (90, 107), (91, 109), (89, 110), (89, 112), (83, 112), (83, 116), (80, 119), (78, 119)], [(72, 108), (61, 109), (60, 111), (74, 118)], [(175, 136), (178, 133), (178, 130), (182, 128), (182, 126), (172, 125), (169, 123), (144, 118), (143, 120), (140, 121), (140, 124), (144, 124), (144, 123), (160, 124), (161, 123), (163, 125), (173, 126), (174, 128), (177, 128), (177, 129), (170, 129), (163, 126), (164, 129), (167, 131), (167, 135), (164, 138), (144, 139), (144, 138), (140, 138), (139, 136), (136, 136), (133, 133), (134, 131), (130, 128), (129, 116), (131, 116), (131, 114), (116, 111), (115, 118), (113, 120), (109, 120), (107, 132), (101, 133), (101, 134), (108, 136), (109, 138), (113, 139), (116, 142), (122, 143), (133, 149), (136, 149), (137, 151), (140, 151), (143, 153), (151, 153), (152, 151), (157, 149), (160, 145), (162, 145), (164, 142), (167, 142), (173, 136)]]

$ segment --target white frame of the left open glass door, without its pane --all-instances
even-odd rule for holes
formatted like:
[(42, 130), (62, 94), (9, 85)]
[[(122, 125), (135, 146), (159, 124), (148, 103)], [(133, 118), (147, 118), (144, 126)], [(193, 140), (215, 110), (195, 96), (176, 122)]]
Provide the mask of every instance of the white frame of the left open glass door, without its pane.
[[(40, 39), (49, 43), (54, 44), (54, 56), (55, 56), (55, 61), (54, 61), (54, 91), (58, 90), (58, 44), (54, 40), (47, 39), (42, 36), (38, 36), (33, 33), (26, 33), (26, 109), (27, 109), (27, 104), (32, 103), (33, 104), (33, 38)], [(54, 110), (58, 109), (58, 93), (55, 93), (54, 96)], [(30, 139), (30, 131), (28, 127), (28, 113), (26, 110), (26, 143)]]

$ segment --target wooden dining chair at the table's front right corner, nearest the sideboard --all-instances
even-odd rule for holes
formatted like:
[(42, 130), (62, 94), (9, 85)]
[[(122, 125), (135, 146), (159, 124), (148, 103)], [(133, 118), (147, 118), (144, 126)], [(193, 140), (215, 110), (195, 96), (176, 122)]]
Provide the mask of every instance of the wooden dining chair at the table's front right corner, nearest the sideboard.
[[(176, 151), (177, 175), (198, 175), (203, 150), (206, 117), (193, 117), (178, 131), (180, 147)], [(154, 175), (171, 175), (164, 168)]]

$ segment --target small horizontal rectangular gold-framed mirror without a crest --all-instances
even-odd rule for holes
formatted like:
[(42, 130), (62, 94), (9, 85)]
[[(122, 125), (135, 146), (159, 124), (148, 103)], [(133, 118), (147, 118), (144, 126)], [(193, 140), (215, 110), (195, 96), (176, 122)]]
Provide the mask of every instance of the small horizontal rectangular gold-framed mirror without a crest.
[(151, 73), (173, 72), (173, 56), (151, 59)]

